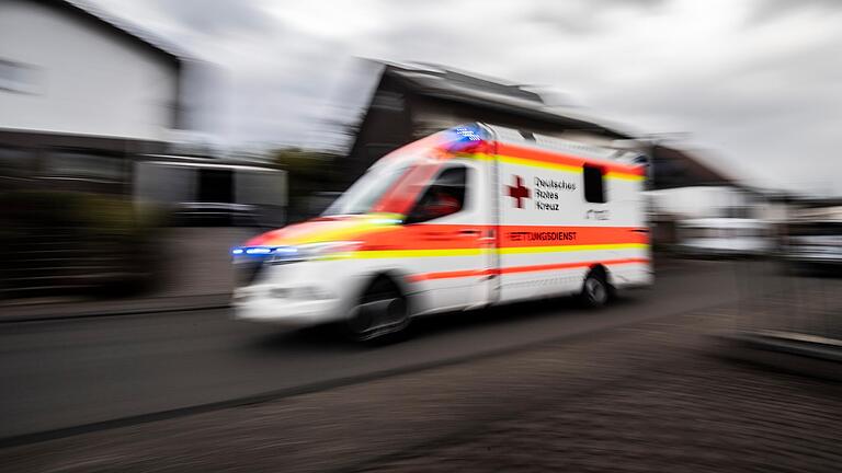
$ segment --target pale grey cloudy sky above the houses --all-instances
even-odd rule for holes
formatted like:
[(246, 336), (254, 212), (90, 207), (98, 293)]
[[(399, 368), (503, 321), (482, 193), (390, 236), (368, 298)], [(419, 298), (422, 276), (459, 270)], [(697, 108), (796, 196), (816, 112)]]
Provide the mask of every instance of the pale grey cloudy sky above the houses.
[(842, 195), (842, 1), (89, 2), (216, 65), (226, 142), (332, 142), (371, 86), (352, 58), (430, 61), (682, 134), (753, 184)]

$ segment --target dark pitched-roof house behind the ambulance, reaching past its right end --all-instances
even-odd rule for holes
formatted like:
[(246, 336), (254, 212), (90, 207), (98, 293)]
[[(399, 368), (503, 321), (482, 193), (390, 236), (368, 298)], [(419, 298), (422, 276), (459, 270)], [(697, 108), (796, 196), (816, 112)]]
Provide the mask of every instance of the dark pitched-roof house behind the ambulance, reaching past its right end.
[(550, 107), (541, 94), (523, 85), (436, 65), (377, 65), (378, 83), (349, 154), (350, 178), (418, 138), (465, 123), (486, 122), (593, 145), (640, 148), (652, 163), (652, 188), (732, 182), (686, 151), (638, 140), (618, 126), (576, 109)]

